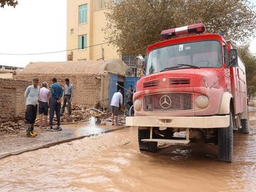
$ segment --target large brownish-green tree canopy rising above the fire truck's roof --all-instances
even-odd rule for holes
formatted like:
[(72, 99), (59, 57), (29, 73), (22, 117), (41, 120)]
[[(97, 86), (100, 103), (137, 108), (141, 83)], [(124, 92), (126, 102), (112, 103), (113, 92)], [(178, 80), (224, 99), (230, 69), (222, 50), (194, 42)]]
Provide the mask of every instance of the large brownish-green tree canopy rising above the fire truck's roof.
[(256, 13), (248, 0), (119, 0), (108, 6), (105, 37), (124, 53), (145, 53), (164, 29), (204, 23), (233, 41), (255, 33)]

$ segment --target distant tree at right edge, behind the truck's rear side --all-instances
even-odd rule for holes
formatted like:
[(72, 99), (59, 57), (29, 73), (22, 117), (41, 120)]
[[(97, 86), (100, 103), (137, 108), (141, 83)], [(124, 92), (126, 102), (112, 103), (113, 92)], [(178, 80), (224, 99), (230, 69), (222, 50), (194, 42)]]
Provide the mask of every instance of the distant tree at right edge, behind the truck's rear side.
[(248, 45), (240, 46), (238, 51), (242, 61), (245, 63), (247, 94), (251, 99), (256, 92), (256, 56), (252, 55)]

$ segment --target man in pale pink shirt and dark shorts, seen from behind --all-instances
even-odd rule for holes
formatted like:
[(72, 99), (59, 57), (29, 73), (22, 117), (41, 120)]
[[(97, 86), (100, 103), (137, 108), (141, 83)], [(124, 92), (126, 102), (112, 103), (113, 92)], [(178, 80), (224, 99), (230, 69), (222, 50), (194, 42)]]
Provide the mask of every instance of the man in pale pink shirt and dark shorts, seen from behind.
[(47, 126), (47, 115), (48, 115), (48, 106), (50, 100), (50, 90), (47, 89), (47, 82), (43, 82), (42, 88), (39, 93), (39, 127), (42, 128), (42, 119), (43, 115), (45, 116), (44, 126)]

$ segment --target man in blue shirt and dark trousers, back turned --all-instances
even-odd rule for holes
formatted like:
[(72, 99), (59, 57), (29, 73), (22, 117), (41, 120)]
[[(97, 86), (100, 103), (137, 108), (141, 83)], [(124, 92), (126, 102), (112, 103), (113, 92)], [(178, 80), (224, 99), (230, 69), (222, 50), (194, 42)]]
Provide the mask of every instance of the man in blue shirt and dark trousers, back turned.
[[(50, 128), (48, 131), (61, 131), (62, 128), (60, 127), (60, 102), (61, 97), (63, 97), (63, 88), (60, 84), (58, 84), (57, 79), (52, 79), (53, 84), (50, 85)], [(56, 113), (57, 117), (57, 127), (53, 128), (53, 116), (54, 112)]]

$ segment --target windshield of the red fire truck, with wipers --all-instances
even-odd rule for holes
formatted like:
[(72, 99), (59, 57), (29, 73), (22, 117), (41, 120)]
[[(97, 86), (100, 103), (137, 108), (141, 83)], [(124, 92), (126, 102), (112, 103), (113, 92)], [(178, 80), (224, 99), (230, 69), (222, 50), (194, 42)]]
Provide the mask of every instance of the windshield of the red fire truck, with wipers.
[(149, 53), (146, 75), (180, 68), (220, 68), (223, 63), (218, 41), (198, 41), (166, 46)]

